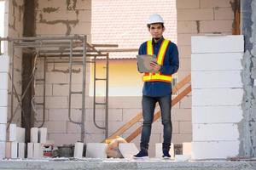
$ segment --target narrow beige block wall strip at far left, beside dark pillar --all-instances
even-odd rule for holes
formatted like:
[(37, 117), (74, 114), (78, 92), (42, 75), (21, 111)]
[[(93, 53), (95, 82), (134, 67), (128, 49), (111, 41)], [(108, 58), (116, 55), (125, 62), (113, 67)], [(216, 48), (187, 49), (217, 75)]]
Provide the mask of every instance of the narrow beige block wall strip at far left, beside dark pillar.
[[(23, 13), (24, 13), (24, 1), (23, 0), (7, 0), (6, 1), (6, 12), (5, 12), (5, 19), (6, 19), (6, 28), (5, 31), (8, 32), (6, 36), (8, 37), (22, 37), (23, 34)], [(14, 48), (12, 48), (11, 43), (8, 43), (8, 46), (5, 48), (5, 52), (8, 52), (9, 57), (11, 57)], [(14, 85), (15, 89), (17, 90), (17, 94), (21, 95), (21, 49), (15, 48), (14, 54), (14, 65), (11, 63), (10, 59), (10, 67), (9, 67), (9, 74), (11, 75), (12, 67), (14, 66)], [(6, 53), (5, 53), (6, 54)], [(10, 118), (10, 105), (11, 105), (11, 80), (9, 79), (9, 118)], [(17, 107), (17, 111), (15, 112), (15, 116), (12, 122), (17, 123), (20, 125), (21, 122), (21, 111), (20, 106), (18, 106), (18, 100), (15, 98), (14, 95), (14, 111)]]

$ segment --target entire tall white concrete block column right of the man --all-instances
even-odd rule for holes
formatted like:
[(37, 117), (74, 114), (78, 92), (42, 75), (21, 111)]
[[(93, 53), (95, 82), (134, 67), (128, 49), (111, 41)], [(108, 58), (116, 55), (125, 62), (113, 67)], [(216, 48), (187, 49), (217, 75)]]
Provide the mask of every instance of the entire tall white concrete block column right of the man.
[(239, 153), (242, 36), (192, 37), (192, 159)]

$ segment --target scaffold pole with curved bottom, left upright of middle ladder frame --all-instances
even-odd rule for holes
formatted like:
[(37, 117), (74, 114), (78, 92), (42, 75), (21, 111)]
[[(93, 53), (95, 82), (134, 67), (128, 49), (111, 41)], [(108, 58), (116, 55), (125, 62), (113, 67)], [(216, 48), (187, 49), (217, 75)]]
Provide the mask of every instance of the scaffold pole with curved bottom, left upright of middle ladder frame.
[(75, 124), (81, 124), (80, 122), (74, 122), (71, 118), (71, 95), (72, 95), (72, 58), (73, 58), (73, 40), (70, 40), (70, 54), (69, 54), (69, 93), (68, 93), (68, 119)]

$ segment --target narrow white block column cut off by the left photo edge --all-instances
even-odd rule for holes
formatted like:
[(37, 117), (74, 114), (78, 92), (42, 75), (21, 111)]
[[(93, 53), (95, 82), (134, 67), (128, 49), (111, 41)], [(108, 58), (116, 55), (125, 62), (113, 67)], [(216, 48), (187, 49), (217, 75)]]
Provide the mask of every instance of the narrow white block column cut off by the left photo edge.
[(5, 157), (9, 57), (0, 56), (0, 160)]

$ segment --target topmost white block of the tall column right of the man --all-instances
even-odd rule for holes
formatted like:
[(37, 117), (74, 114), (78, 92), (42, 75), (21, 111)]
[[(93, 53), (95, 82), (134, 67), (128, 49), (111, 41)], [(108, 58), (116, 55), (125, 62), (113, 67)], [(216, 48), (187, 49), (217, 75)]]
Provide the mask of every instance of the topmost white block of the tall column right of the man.
[(191, 37), (192, 53), (239, 53), (243, 47), (242, 35)]

